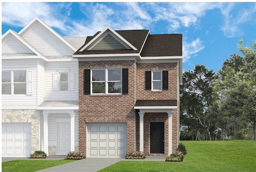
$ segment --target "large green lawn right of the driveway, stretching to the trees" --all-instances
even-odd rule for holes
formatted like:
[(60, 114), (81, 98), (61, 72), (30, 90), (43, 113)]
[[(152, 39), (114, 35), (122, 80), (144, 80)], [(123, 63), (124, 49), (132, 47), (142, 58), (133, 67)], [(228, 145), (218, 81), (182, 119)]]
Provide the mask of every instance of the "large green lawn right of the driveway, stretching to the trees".
[(120, 161), (100, 172), (255, 172), (256, 141), (181, 141), (182, 162)]

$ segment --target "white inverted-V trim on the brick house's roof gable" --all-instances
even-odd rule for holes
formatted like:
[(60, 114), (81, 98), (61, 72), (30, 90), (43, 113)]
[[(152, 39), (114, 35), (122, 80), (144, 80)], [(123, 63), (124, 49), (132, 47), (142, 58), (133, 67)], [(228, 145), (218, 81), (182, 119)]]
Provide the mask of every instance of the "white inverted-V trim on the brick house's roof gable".
[(126, 39), (124, 39), (120, 34), (118, 34), (116, 31), (114, 31), (112, 28), (107, 26), (104, 30), (102, 30), (98, 35), (96, 35), (88, 44), (86, 44), (83, 48), (81, 48), (79, 51), (83, 51), (85, 49), (91, 50), (98, 42), (100, 42), (105, 36), (110, 34), (113, 36), (116, 40), (118, 40), (123, 46), (125, 46), (127, 49), (133, 49), (138, 50), (135, 48), (130, 42), (128, 42)]

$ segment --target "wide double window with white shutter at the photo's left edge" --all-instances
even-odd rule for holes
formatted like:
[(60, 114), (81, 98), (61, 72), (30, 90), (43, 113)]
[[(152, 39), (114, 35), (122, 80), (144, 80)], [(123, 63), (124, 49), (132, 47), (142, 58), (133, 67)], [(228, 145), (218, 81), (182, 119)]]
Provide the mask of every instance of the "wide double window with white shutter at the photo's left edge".
[(2, 94), (32, 94), (32, 72), (26, 72), (26, 70), (2, 71)]

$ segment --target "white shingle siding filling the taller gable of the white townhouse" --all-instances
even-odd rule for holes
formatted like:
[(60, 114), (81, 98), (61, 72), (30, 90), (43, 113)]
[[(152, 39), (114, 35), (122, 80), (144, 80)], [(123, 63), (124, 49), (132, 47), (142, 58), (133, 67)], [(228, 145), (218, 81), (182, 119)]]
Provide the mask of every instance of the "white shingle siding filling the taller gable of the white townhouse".
[(72, 56), (74, 54), (71, 48), (39, 23), (23, 38), (44, 56)]

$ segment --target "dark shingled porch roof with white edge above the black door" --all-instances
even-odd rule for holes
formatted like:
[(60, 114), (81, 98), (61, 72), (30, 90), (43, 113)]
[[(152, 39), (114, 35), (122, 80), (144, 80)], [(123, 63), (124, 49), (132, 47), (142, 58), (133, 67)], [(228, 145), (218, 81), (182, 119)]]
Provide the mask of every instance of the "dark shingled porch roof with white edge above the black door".
[(134, 109), (176, 109), (177, 100), (137, 100)]

